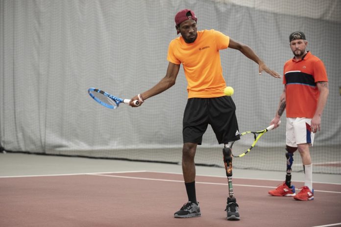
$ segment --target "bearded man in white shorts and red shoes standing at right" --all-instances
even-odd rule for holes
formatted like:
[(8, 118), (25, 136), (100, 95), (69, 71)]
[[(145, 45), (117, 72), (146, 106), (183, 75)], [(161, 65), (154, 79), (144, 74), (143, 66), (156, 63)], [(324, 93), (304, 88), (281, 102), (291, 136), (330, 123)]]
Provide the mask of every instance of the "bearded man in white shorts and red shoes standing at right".
[[(284, 65), (284, 90), (275, 117), (270, 124), (278, 126), (279, 118), (287, 110), (286, 158), (287, 175), (283, 184), (268, 193), (272, 196), (293, 196), (295, 200), (313, 200), (313, 166), (309, 146), (320, 130), (321, 115), (329, 93), (327, 72), (323, 62), (306, 50), (308, 42), (303, 32), (289, 36), (294, 57)], [(293, 153), (298, 149), (305, 173), (304, 186), (296, 195), (291, 185)]]

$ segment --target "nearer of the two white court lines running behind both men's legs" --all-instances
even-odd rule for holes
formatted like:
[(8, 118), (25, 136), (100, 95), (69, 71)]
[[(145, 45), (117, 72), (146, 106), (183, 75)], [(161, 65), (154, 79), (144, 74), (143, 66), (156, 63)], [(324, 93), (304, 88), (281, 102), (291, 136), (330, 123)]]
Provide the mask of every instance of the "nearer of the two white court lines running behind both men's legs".
[[(140, 177), (126, 177), (126, 176), (114, 176), (114, 175), (104, 175), (104, 174), (89, 174), (95, 176), (103, 176), (103, 177), (115, 177), (115, 178), (125, 178), (125, 179), (137, 179), (137, 180), (148, 180), (148, 181), (161, 181), (161, 182), (181, 182), (184, 181), (177, 181), (177, 180), (166, 180), (166, 179), (154, 179), (154, 178), (140, 178)], [(212, 182), (195, 182), (200, 184), (214, 184), (214, 185), (228, 185), (228, 183), (212, 183)], [(262, 188), (274, 188), (271, 186), (259, 186), (259, 185), (250, 185), (250, 184), (233, 184), (234, 186), (243, 186), (243, 187), (262, 187)], [(297, 189), (298, 190), (298, 189)], [(317, 192), (327, 192), (327, 193), (340, 193), (336, 191), (321, 191), (321, 190), (314, 190)]]

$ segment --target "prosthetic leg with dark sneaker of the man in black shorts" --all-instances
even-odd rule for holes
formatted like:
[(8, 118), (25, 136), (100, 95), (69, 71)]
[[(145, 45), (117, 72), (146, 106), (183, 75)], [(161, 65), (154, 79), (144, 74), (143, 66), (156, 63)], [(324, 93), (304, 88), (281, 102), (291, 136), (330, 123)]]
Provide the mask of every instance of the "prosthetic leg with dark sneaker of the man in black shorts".
[(224, 145), (222, 149), (223, 160), (226, 170), (227, 182), (228, 182), (228, 195), (227, 205), (225, 211), (227, 212), (227, 220), (240, 220), (238, 212), (239, 206), (236, 203), (232, 187), (232, 152), (228, 144)]

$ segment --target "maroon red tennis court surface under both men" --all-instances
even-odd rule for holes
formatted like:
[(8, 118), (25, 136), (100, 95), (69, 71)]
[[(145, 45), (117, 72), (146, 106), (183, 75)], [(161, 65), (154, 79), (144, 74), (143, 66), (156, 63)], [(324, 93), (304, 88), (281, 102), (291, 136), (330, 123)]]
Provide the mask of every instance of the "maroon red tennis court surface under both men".
[[(314, 183), (315, 200), (272, 197), (279, 181), (233, 179), (241, 220), (227, 221), (227, 179), (197, 176), (201, 217), (176, 219), (187, 202), (181, 174), (120, 172), (0, 178), (1, 227), (341, 226), (341, 184)], [(293, 182), (296, 188), (302, 182)]]

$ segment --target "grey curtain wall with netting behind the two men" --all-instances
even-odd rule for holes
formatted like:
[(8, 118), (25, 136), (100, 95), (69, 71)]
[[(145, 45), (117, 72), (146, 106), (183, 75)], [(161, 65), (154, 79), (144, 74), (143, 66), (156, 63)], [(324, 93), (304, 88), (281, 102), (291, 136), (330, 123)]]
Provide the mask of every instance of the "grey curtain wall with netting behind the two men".
[[(308, 49), (324, 62), (329, 77), (328, 103), (311, 150), (314, 171), (340, 174), (341, 4), (296, 2), (302, 6), (290, 11), (286, 2), (276, 9), (267, 1), (253, 2), (2, 0), (0, 145), (9, 151), (180, 163), (187, 102), (182, 68), (172, 88), (140, 108), (106, 109), (87, 89), (130, 98), (155, 85), (166, 74), (168, 45), (177, 36), (174, 15), (190, 8), (198, 30), (216, 29), (251, 46), (281, 73), (292, 58), (289, 34), (305, 32)], [(240, 131), (267, 127), (282, 80), (258, 75), (258, 65), (237, 50), (220, 56), (226, 84), (235, 89)], [(222, 166), (221, 149), (209, 127), (196, 163)], [(282, 126), (262, 137), (247, 157), (235, 159), (235, 167), (283, 170), (284, 154), (285, 114)], [(296, 158), (300, 163), (298, 153)]]

